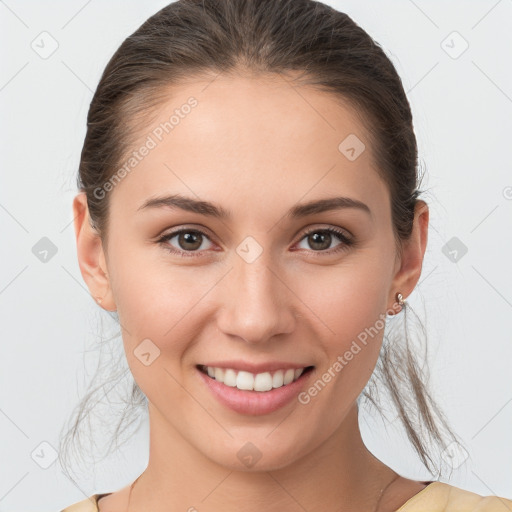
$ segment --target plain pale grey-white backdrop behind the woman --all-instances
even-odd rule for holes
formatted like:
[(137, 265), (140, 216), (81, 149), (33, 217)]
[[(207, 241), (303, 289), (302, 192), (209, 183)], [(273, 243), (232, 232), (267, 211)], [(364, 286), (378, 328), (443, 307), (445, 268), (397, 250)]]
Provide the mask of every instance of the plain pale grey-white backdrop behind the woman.
[[(512, 498), (512, 1), (326, 3), (381, 44), (411, 102), (431, 224), (409, 302), (426, 311), (430, 386), (471, 455), (449, 483)], [(95, 367), (100, 320), (116, 330), (76, 259), (87, 110), (113, 52), (166, 4), (0, 1), (0, 511), (57, 511), (147, 462), (147, 428), (76, 482), (52, 450)], [(403, 433), (369, 414), (361, 428), (381, 460), (429, 478)]]

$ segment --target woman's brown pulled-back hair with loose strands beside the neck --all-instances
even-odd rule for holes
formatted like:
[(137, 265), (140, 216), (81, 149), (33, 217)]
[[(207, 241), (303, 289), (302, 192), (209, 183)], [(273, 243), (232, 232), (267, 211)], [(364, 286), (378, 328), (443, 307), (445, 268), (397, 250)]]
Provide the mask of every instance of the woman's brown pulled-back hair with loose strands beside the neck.
[[(348, 102), (361, 115), (376, 167), (389, 188), (396, 247), (401, 251), (422, 193), (412, 114), (401, 79), (378, 43), (347, 14), (313, 0), (179, 0), (126, 38), (92, 99), (78, 175), (104, 247), (109, 195), (98, 197), (95, 191), (116, 172), (169, 86), (201, 75), (247, 72), (280, 74), (293, 85), (316, 87)], [(408, 311), (406, 305), (400, 315), (405, 322)], [(425, 345), (425, 363), (426, 358)], [(459, 441), (432, 399), (427, 380), (426, 365), (418, 365), (405, 325), (405, 336), (392, 342), (384, 336), (376, 369), (358, 403), (365, 397), (380, 410), (379, 392), (387, 389), (408, 439), (433, 472), (439, 457), (432, 458), (429, 440), (444, 449), (444, 428)], [(147, 406), (137, 384), (131, 384), (129, 405)], [(101, 397), (104, 387), (93, 388), (79, 404), (66, 440), (79, 433), (88, 404), (95, 395)], [(126, 417), (127, 411), (115, 437)]]

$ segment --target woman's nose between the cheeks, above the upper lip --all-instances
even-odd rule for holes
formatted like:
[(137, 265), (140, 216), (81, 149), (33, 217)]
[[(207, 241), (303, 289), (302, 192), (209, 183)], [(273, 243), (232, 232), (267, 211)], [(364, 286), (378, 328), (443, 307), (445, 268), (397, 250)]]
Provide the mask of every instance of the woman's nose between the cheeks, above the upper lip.
[(251, 263), (238, 256), (234, 260), (234, 268), (223, 279), (222, 289), (217, 290), (220, 331), (251, 344), (291, 333), (299, 301), (283, 272), (273, 268), (265, 251)]

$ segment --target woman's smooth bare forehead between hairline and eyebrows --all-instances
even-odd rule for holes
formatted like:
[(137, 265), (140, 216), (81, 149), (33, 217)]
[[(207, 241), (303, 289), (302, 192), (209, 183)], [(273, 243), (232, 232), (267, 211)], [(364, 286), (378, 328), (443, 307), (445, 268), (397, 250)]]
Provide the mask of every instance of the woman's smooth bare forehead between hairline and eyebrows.
[(172, 86), (164, 98), (132, 148), (150, 149), (132, 157), (113, 191), (112, 206), (126, 214), (165, 192), (229, 202), (231, 210), (253, 201), (255, 213), (333, 192), (388, 206), (367, 130), (333, 94), (284, 75), (218, 75)]

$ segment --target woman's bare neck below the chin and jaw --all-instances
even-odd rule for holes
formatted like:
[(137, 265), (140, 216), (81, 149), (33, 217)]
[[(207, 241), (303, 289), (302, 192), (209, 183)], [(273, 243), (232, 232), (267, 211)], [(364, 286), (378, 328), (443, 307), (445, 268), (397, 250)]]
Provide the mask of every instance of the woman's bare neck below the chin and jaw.
[(398, 475), (360, 435), (357, 405), (322, 445), (280, 469), (237, 471), (191, 447), (150, 404), (150, 458), (133, 487), (130, 512), (376, 510)]

